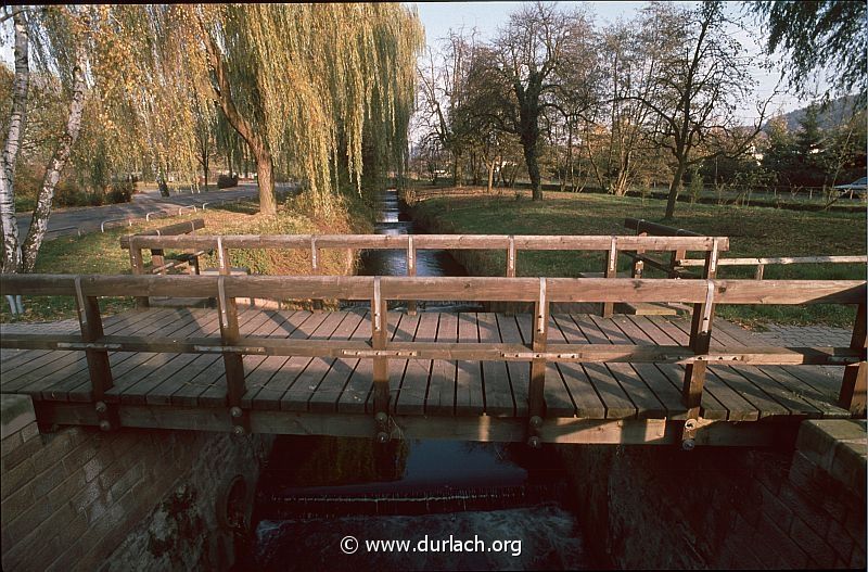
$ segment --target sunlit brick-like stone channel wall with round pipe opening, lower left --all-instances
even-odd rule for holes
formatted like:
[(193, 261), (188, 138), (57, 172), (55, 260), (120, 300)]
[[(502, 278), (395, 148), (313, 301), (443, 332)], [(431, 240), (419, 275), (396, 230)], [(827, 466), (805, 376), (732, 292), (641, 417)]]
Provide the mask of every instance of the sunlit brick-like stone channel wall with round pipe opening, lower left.
[(271, 437), (82, 427), (43, 434), (29, 397), (2, 399), (4, 570), (231, 565), (222, 497), (238, 474), (252, 497)]

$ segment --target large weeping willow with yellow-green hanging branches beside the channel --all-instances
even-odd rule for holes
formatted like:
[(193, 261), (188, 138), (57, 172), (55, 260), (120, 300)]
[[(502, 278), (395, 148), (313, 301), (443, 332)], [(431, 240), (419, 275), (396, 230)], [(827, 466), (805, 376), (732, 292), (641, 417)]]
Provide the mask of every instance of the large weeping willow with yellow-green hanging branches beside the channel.
[[(404, 164), (424, 35), (400, 4), (100, 7), (93, 73), (107, 115), (135, 126), (155, 162), (195, 170), (196, 116), (213, 101), (252, 152), (259, 209), (275, 167), (330, 208), (335, 170), (361, 188), (366, 136)], [(115, 49), (105, 49), (112, 46)], [(209, 111), (210, 110), (210, 111)], [(201, 119), (200, 119), (201, 122)], [(182, 142), (187, 143), (182, 143)]]

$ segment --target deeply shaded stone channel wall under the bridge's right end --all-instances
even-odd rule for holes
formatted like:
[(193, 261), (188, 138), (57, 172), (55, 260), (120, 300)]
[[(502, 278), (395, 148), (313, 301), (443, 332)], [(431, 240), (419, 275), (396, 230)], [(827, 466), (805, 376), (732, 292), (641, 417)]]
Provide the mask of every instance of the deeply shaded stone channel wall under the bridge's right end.
[(865, 568), (865, 421), (795, 450), (561, 446), (587, 546), (615, 568)]

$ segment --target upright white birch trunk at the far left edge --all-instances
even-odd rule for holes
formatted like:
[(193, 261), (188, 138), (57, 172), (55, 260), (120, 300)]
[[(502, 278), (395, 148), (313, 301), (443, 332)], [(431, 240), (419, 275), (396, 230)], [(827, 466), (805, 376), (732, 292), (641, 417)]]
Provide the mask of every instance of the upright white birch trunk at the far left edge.
[(27, 91), (30, 85), (29, 38), (22, 8), (13, 9), (15, 26), (15, 79), (12, 88), (12, 113), (3, 154), (0, 157), (0, 227), (3, 230), (3, 272), (16, 272), (21, 265), (18, 220), (15, 216), (15, 163), (21, 136), (27, 120)]

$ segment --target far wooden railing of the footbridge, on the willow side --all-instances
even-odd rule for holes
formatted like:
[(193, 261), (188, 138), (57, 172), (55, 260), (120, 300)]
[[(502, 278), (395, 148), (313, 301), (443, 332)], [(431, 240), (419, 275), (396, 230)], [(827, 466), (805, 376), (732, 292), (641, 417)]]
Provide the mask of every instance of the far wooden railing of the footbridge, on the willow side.
[[(310, 252), (311, 274), (320, 274), (320, 251), (344, 250), (347, 269), (352, 269), (358, 250), (403, 250), (407, 258), (407, 276), (416, 276), (417, 252), (422, 250), (503, 250), (505, 276), (516, 276), (520, 251), (598, 251), (605, 253), (603, 275), (615, 278), (621, 254), (635, 256), (646, 251), (672, 252), (673, 257), (684, 257), (686, 252), (704, 252), (713, 266), (718, 253), (729, 250), (726, 237), (634, 237), (634, 236), (528, 236), (528, 234), (233, 234), (233, 236), (142, 236), (124, 237), (120, 241), (129, 250), (132, 272), (145, 274), (142, 251), (151, 249), (213, 249), (217, 252), (220, 274), (229, 274), (230, 249), (293, 249)], [(156, 265), (156, 262), (153, 263)], [(349, 274), (349, 271), (347, 271)], [(714, 269), (706, 272), (714, 277)], [(673, 278), (680, 277), (678, 275)], [(146, 298), (138, 301), (146, 306)], [(416, 312), (416, 301), (409, 300), (408, 312)], [(603, 305), (603, 316), (612, 315), (612, 304)]]

